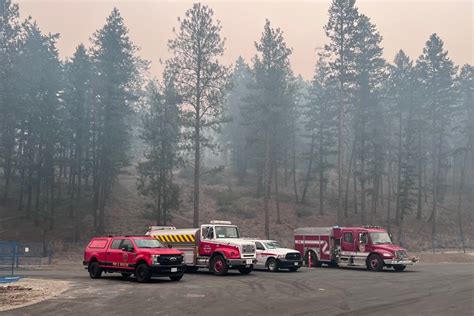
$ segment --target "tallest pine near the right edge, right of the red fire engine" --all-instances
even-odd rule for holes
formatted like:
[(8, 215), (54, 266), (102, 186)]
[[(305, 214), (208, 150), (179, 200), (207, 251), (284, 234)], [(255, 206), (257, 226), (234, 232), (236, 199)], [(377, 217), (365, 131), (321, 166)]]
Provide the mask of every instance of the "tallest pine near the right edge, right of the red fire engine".
[(432, 249), (436, 249), (436, 224), (438, 203), (440, 202), (442, 173), (447, 167), (448, 145), (447, 134), (452, 118), (454, 98), (455, 67), (444, 50), (444, 43), (438, 35), (432, 34), (426, 42), (423, 54), (417, 61), (419, 80), (423, 89), (425, 111), (430, 121), (430, 146), (432, 164), (433, 208), (430, 216), (432, 221)]

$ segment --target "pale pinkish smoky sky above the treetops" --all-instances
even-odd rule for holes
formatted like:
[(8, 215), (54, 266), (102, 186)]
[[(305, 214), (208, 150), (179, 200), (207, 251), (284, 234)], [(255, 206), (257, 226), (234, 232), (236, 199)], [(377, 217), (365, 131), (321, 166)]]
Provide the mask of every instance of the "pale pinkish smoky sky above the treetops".
[[(43, 32), (60, 33), (61, 57), (71, 56), (79, 43), (89, 45), (89, 37), (101, 28), (116, 6), (130, 30), (130, 38), (141, 47), (140, 55), (152, 62), (151, 74), (160, 76), (160, 59), (169, 57), (167, 41), (178, 26), (177, 17), (191, 7), (190, 0), (20, 0), (23, 18), (31, 15)], [(293, 48), (292, 67), (305, 79), (313, 75), (316, 49), (323, 47), (323, 26), (328, 20), (329, 0), (296, 1), (201, 1), (210, 5), (221, 20), (226, 37), (225, 63), (239, 55), (247, 61), (255, 55), (254, 42), (260, 39), (265, 18), (285, 33)], [(473, 64), (473, 1), (386, 1), (360, 0), (360, 12), (369, 16), (383, 36), (385, 58), (393, 60), (399, 49), (417, 58), (431, 33), (438, 33), (449, 56), (458, 65)]]

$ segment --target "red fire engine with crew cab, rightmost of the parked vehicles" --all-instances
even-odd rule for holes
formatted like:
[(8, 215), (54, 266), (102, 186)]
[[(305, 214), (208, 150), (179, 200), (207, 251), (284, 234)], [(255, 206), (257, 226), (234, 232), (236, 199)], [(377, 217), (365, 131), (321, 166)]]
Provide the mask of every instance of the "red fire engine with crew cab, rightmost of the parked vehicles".
[(392, 267), (403, 271), (418, 259), (394, 245), (387, 231), (376, 226), (303, 227), (294, 231), (295, 249), (308, 266), (365, 266), (370, 271)]

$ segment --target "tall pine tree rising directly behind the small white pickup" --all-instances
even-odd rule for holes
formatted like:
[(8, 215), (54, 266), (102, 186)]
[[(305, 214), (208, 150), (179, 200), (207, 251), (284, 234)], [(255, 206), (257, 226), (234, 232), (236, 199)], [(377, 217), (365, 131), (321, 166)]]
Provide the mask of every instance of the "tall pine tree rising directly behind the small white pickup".
[[(259, 53), (254, 58), (255, 89), (257, 99), (249, 112), (253, 118), (251, 123), (259, 130), (263, 145), (263, 190), (265, 236), (270, 236), (269, 200), (273, 176), (278, 172), (279, 158), (282, 156), (283, 140), (288, 125), (288, 110), (292, 99), (293, 87), (289, 56), (291, 49), (286, 46), (283, 32), (272, 28), (270, 21), (265, 22), (260, 42), (255, 43)], [(282, 128), (283, 127), (283, 128)], [(278, 214), (277, 214), (278, 217)], [(277, 219), (278, 221), (278, 219)]]

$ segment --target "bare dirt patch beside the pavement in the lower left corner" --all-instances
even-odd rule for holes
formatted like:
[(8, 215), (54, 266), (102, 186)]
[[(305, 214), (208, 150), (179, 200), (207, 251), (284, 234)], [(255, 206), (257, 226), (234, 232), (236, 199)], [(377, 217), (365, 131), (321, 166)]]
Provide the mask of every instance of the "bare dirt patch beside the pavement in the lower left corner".
[(35, 304), (55, 297), (69, 287), (69, 282), (44, 279), (21, 279), (0, 285), (0, 311)]

